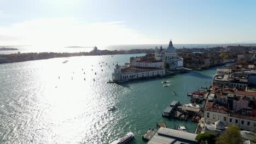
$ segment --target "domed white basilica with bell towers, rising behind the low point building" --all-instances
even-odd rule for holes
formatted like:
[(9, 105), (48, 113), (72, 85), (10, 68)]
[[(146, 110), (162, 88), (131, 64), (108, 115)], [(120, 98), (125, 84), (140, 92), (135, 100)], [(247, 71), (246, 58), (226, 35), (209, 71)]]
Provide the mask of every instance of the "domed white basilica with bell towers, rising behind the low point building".
[(155, 48), (155, 60), (163, 61), (166, 64), (167, 70), (183, 70), (183, 59), (179, 57), (176, 53), (175, 47), (172, 45), (172, 40), (170, 40), (169, 46), (165, 49)]

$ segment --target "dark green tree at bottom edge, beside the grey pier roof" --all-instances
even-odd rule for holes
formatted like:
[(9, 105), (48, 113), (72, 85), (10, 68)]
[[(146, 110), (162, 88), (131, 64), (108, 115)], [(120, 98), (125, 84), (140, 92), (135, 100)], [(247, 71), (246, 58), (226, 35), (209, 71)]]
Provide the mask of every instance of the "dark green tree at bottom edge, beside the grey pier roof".
[(196, 140), (201, 143), (208, 143), (208, 144), (214, 144), (216, 141), (217, 135), (211, 134), (211, 133), (203, 133), (196, 136)]

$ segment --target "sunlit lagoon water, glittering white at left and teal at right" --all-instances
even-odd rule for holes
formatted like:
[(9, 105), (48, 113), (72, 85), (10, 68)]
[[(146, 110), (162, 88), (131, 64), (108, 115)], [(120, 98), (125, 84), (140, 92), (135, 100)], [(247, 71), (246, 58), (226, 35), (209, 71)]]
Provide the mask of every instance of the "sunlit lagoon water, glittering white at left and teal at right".
[[(135, 134), (131, 143), (145, 143), (142, 135), (157, 122), (165, 122), (168, 128), (184, 124), (194, 133), (196, 123), (161, 114), (171, 101), (187, 104), (187, 92), (210, 86), (217, 67), (120, 85), (107, 83), (113, 63), (124, 64), (131, 56), (143, 54), (1, 64), (0, 143), (110, 143), (129, 131)], [(162, 87), (166, 80), (170, 86)], [(113, 105), (117, 109), (109, 112)]]

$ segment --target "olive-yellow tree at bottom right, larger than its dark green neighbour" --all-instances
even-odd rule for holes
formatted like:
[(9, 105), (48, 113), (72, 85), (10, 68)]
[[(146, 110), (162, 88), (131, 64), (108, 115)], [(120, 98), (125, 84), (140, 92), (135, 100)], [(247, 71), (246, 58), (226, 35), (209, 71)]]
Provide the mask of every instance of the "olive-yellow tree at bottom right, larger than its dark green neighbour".
[(222, 134), (217, 138), (216, 141), (217, 144), (224, 144), (224, 143), (230, 143), (230, 144), (242, 144), (243, 139), (240, 134), (240, 129), (236, 125), (232, 125), (228, 127), (225, 131), (223, 131)]

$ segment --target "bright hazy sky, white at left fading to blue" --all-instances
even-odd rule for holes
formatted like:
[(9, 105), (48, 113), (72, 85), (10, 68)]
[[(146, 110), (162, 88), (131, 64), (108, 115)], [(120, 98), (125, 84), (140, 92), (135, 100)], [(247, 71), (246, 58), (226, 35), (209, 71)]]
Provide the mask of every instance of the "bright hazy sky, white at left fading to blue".
[[(0, 0), (0, 45), (256, 40), (256, 1)], [(255, 42), (255, 41), (254, 41)]]

